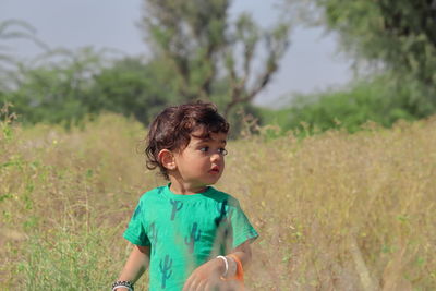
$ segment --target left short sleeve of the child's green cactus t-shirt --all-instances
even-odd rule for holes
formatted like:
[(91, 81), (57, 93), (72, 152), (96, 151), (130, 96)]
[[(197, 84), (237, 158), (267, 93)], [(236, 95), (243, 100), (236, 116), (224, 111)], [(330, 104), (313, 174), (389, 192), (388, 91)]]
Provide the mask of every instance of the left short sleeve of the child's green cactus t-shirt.
[(141, 199), (137, 204), (135, 211), (129, 222), (128, 229), (124, 231), (124, 239), (130, 241), (133, 244), (141, 246), (150, 245), (150, 241), (145, 231), (144, 226), (144, 202)]

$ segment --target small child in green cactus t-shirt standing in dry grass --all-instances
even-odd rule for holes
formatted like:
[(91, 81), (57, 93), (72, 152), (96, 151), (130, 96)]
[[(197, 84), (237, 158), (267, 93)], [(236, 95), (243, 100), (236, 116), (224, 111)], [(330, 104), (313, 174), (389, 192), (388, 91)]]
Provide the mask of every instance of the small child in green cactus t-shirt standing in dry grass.
[(204, 102), (169, 107), (152, 123), (147, 168), (170, 183), (141, 197), (124, 232), (134, 247), (112, 290), (133, 290), (147, 267), (149, 290), (229, 288), (241, 276), (258, 234), (235, 198), (209, 186), (223, 172), (228, 132)]

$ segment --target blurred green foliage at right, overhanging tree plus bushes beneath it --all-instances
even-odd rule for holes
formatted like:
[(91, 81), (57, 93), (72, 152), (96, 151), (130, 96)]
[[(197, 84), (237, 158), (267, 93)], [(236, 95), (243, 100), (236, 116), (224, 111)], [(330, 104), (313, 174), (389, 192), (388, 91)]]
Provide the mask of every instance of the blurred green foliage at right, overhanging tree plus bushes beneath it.
[(332, 128), (355, 132), (367, 121), (390, 126), (436, 112), (436, 2), (432, 0), (287, 1), (299, 21), (338, 33), (363, 72), (348, 88), (294, 98), (264, 110), (267, 122), (303, 135)]

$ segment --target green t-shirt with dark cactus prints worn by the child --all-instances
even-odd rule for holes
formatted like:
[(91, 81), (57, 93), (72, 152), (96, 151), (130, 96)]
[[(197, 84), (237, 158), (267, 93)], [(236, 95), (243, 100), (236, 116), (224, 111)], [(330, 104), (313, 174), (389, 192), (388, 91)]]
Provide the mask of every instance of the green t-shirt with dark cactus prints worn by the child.
[(211, 186), (193, 195), (169, 185), (145, 193), (124, 232), (131, 243), (152, 246), (152, 291), (182, 290), (196, 267), (257, 237), (239, 202)]

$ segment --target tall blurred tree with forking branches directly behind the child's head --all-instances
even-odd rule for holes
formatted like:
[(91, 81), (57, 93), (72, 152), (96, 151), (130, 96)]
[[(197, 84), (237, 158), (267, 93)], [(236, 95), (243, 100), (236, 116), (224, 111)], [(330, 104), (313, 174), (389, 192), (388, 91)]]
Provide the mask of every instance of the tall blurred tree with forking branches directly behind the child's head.
[[(263, 31), (249, 14), (230, 23), (229, 0), (145, 0), (140, 27), (171, 68), (184, 101), (217, 102), (229, 116), (262, 92), (289, 45), (289, 25)], [(259, 60), (258, 47), (266, 57)], [(254, 63), (261, 69), (254, 72)], [(226, 84), (226, 85), (223, 85)], [(219, 88), (226, 87), (222, 93)]]

